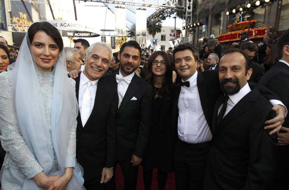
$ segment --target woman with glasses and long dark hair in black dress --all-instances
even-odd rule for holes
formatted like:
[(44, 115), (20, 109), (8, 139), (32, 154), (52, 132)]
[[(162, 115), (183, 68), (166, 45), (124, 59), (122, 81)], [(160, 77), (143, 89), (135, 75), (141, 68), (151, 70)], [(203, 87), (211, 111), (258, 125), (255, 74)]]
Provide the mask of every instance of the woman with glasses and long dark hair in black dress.
[(148, 152), (143, 161), (144, 187), (151, 189), (153, 169), (158, 169), (158, 188), (165, 189), (168, 173), (173, 171), (172, 102), (175, 84), (172, 65), (163, 51), (154, 52), (148, 60), (145, 80), (154, 88)]

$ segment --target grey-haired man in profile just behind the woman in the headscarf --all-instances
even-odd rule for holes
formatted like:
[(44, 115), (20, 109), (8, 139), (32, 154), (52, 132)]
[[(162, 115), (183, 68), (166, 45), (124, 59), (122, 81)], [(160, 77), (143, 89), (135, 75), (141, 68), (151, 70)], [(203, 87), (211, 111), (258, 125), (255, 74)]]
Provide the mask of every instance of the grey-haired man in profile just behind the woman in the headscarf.
[(67, 72), (80, 71), (81, 59), (79, 50), (76, 48), (64, 47)]

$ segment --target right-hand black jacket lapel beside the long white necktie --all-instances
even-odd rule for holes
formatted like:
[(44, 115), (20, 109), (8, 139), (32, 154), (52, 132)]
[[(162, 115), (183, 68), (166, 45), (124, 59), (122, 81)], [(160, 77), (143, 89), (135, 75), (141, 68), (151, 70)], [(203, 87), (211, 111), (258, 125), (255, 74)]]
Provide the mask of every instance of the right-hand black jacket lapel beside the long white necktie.
[[(94, 117), (96, 111), (98, 110), (98, 107), (101, 105), (102, 99), (104, 97), (104, 90), (102, 90), (103, 88), (105, 88), (104, 85), (104, 81), (102, 81), (102, 79), (100, 78), (98, 83), (97, 83), (97, 88), (96, 88), (96, 93), (95, 93), (95, 100), (94, 100), (94, 106), (92, 109), (92, 112), (87, 120), (87, 122), (85, 123), (85, 126), (87, 124), (89, 124), (89, 122), (92, 120), (92, 118)], [(84, 127), (85, 127), (84, 126)]]

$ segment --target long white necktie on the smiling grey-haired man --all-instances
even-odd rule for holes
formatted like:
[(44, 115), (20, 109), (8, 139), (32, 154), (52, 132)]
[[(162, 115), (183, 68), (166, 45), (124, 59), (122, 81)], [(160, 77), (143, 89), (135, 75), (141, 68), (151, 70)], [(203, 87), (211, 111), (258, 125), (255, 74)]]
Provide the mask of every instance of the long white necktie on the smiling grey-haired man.
[(84, 90), (83, 97), (82, 97), (82, 105), (81, 105), (81, 121), (82, 126), (86, 124), (90, 116), (90, 103), (91, 103), (91, 90), (90, 87), (92, 86), (92, 82), (87, 82), (87, 87)]

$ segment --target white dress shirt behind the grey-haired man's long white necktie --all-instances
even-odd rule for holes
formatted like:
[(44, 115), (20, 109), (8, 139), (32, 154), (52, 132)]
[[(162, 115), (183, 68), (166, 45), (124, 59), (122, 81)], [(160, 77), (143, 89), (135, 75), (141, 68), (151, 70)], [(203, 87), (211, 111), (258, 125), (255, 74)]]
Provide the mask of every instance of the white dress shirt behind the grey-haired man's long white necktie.
[[(94, 101), (95, 101), (95, 94), (96, 94), (96, 89), (97, 89), (97, 83), (98, 80), (95, 81), (91, 81), (92, 83), (92, 88), (91, 90), (91, 104), (90, 104), (90, 110), (89, 110), (89, 114), (91, 114), (93, 106), (94, 106)], [(79, 92), (78, 92), (78, 105), (79, 105), (79, 112), (81, 115), (81, 107), (82, 107), (82, 98), (83, 98), (83, 93), (85, 88), (87, 87), (87, 82), (89, 81), (89, 79), (83, 74), (83, 72), (80, 73), (80, 82), (79, 82)]]

